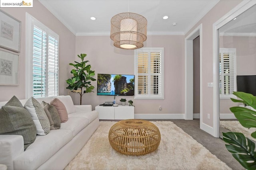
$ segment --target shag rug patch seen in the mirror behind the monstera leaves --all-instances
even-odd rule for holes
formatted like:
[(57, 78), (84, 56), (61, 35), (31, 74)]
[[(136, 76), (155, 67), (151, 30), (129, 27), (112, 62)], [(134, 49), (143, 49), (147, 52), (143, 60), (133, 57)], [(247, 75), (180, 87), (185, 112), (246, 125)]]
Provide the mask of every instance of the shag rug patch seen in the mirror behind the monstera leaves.
[(245, 137), (251, 139), (252, 141), (256, 141), (251, 134), (256, 131), (256, 128), (251, 127), (250, 129), (243, 127), (239, 121), (220, 121), (220, 127), (228, 129), (232, 132), (239, 132), (244, 134)]

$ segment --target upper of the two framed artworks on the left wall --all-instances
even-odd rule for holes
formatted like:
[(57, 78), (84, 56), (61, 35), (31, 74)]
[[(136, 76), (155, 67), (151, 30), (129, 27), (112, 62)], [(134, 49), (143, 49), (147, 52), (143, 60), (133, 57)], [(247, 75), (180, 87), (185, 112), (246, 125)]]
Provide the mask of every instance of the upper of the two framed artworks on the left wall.
[(0, 47), (20, 52), (21, 21), (0, 10)]

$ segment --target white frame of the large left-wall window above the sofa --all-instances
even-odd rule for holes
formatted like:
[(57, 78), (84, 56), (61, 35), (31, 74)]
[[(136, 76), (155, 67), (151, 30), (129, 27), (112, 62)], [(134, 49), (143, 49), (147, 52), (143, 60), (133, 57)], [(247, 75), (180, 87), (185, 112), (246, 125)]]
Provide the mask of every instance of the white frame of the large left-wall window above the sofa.
[[(40, 29), (45, 31), (47, 33), (47, 35), (50, 35), (51, 37), (54, 37), (55, 39), (58, 40), (58, 68), (59, 68), (59, 35), (26, 12), (26, 78), (25, 78), (25, 81), (26, 81), (25, 97), (26, 98), (30, 98), (31, 96), (33, 96), (33, 33), (34, 33), (34, 25), (36, 25), (36, 27), (39, 27)], [(47, 52), (46, 56), (48, 58), (48, 52)], [(46, 65), (48, 65), (48, 63), (46, 63)], [(48, 72), (48, 70), (47, 70), (47, 72)], [(58, 75), (57, 92), (55, 91), (56, 95), (53, 95), (53, 96), (59, 95), (59, 69), (57, 71), (57, 75)], [(47, 92), (48, 85), (46, 85), (46, 89), (47, 90), (46, 90), (45, 97), (48, 97), (48, 92)], [(37, 98), (40, 98), (40, 97), (37, 97)]]

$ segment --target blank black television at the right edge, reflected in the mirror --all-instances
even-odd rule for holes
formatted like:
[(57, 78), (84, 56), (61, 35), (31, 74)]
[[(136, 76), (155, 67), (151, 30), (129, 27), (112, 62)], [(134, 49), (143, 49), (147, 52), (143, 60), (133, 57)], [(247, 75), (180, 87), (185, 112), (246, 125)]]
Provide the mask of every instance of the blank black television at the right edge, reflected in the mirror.
[(256, 75), (236, 76), (237, 91), (256, 96)]

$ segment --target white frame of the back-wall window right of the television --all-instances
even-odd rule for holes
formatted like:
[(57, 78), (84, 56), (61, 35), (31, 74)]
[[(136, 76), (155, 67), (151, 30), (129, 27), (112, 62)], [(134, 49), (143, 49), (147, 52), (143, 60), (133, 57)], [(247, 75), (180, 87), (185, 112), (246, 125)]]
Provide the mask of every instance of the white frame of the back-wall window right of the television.
[[(148, 90), (147, 94), (138, 94), (138, 53), (141, 53), (141, 51), (145, 51), (149, 54), (148, 57), (150, 57), (151, 52), (160, 52), (160, 73), (158, 73), (161, 76), (161, 85), (159, 86), (158, 92), (160, 94), (151, 94), (151, 76), (155, 75), (150, 72), (150, 60), (148, 60)], [(143, 47), (140, 49), (134, 50), (134, 75), (135, 75), (135, 86), (134, 86), (134, 99), (142, 99), (142, 100), (164, 100), (164, 47)]]

